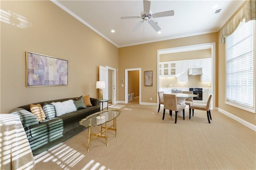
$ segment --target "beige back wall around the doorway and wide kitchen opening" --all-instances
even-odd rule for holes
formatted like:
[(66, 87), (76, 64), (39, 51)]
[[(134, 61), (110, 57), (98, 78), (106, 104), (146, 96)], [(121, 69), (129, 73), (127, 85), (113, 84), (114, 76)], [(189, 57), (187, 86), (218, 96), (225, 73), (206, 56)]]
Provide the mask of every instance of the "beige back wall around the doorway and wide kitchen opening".
[[(125, 69), (141, 68), (141, 102), (157, 103), (157, 50), (201, 43), (217, 42), (217, 33), (178, 38), (119, 48), (119, 79), (125, 79)], [(216, 48), (216, 50), (218, 50)], [(218, 55), (218, 54), (217, 54)], [(218, 56), (216, 56), (218, 57)], [(144, 85), (144, 71), (153, 71), (153, 86)], [(119, 86), (119, 100), (124, 101), (124, 87)], [(150, 101), (152, 97), (152, 101)]]

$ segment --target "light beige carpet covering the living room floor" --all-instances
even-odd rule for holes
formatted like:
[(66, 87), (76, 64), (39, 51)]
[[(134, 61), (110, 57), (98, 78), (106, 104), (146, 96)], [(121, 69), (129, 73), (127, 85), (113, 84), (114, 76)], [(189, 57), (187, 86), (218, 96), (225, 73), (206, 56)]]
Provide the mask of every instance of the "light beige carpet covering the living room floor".
[(206, 112), (197, 110), (190, 120), (178, 117), (174, 124), (175, 114), (170, 117), (168, 110), (162, 120), (163, 107), (157, 113), (158, 106), (136, 100), (109, 109), (115, 107), (122, 113), (117, 137), (108, 131), (108, 146), (104, 138), (96, 138), (87, 152), (86, 129), (36, 155), (36, 170), (256, 169), (256, 132), (218, 111), (211, 111), (211, 124)]

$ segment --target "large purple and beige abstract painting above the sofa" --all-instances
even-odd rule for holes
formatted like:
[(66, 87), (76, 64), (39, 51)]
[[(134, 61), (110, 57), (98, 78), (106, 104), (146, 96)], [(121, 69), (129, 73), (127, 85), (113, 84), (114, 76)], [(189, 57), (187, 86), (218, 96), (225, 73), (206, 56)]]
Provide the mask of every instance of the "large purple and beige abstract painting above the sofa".
[(68, 85), (68, 61), (26, 51), (26, 87)]

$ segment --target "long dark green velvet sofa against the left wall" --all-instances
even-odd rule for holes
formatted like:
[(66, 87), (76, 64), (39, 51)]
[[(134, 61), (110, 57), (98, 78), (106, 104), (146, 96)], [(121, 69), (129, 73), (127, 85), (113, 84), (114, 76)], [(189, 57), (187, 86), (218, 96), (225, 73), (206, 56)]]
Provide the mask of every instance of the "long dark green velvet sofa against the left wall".
[[(39, 102), (39, 104), (44, 106), (46, 103), (63, 102), (70, 99), (76, 100), (77, 97), (44, 101)], [(10, 113), (20, 116), (31, 150), (36, 155), (86, 129), (86, 127), (79, 124), (79, 121), (100, 111), (99, 100), (90, 98), (90, 101), (92, 106), (86, 109), (79, 109), (52, 119), (45, 119), (42, 123), (38, 122), (36, 116), (30, 112), (30, 104), (12, 109)]]

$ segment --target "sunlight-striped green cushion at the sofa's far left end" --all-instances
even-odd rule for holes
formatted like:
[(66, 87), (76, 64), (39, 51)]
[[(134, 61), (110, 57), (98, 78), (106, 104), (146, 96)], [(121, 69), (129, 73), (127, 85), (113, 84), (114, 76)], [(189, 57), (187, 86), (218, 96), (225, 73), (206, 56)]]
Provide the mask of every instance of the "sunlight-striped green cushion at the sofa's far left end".
[(20, 121), (25, 130), (28, 129), (29, 127), (39, 124), (36, 116), (33, 113), (23, 108), (18, 107), (18, 108), (12, 109), (9, 113), (20, 116)]

